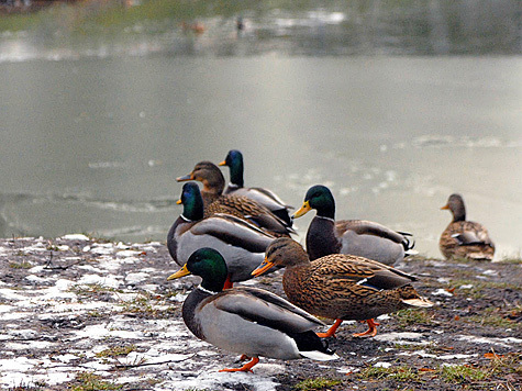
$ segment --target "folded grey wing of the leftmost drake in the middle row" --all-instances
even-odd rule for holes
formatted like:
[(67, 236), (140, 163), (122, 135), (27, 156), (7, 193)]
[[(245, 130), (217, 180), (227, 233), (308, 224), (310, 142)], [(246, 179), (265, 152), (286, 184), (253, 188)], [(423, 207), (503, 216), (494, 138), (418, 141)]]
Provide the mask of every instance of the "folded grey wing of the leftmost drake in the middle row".
[(253, 224), (224, 213), (201, 220), (190, 228), (190, 232), (193, 235), (211, 235), (229, 245), (243, 247), (253, 253), (264, 253), (275, 239)]

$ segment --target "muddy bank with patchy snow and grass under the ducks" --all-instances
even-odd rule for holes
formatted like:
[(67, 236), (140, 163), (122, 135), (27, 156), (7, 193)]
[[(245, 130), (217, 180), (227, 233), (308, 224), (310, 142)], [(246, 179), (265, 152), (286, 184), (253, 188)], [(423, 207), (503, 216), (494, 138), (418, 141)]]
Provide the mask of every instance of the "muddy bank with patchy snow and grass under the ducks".
[[(237, 358), (196, 339), (180, 308), (198, 279), (165, 244), (84, 235), (0, 239), (0, 372), (7, 390), (520, 390), (522, 264), (413, 257), (398, 268), (436, 305), (342, 325), (336, 361)], [(284, 295), (281, 272), (249, 281)], [(311, 380), (313, 381), (311, 381)]]

